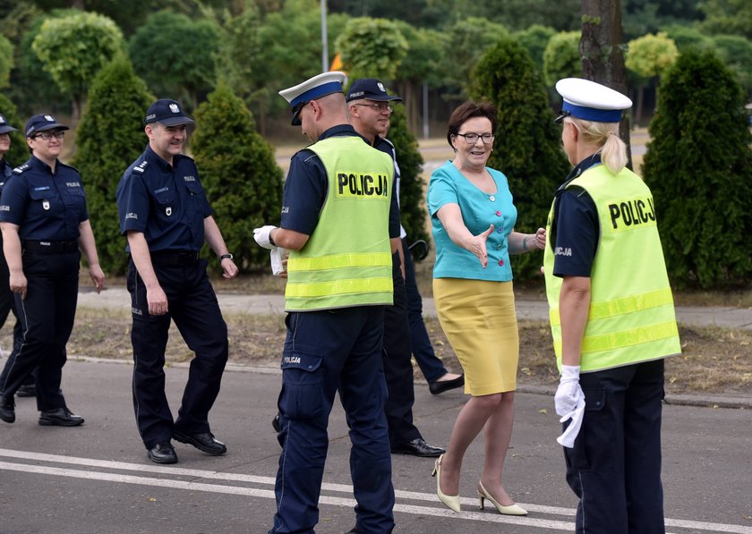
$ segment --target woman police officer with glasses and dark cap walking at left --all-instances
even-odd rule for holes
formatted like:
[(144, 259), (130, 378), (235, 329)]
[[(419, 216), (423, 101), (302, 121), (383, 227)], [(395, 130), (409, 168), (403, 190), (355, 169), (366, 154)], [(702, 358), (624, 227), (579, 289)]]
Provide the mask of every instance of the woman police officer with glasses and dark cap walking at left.
[(0, 197), (0, 229), (21, 314), (23, 343), (5, 377), (0, 419), (15, 420), (13, 394), (37, 369), (39, 424), (75, 427), (83, 418), (65, 405), (60, 382), (65, 344), (73, 330), (81, 252), (99, 292), (105, 275), (99, 267), (81, 175), (57, 157), (67, 126), (50, 114), (26, 123), (31, 157), (13, 169)]

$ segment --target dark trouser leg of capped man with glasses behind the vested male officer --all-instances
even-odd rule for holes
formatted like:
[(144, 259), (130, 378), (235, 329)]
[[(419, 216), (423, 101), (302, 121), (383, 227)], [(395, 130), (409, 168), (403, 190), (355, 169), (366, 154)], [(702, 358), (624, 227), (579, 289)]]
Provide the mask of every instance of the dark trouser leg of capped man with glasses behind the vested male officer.
[[(409, 254), (409, 251), (407, 252)], [(410, 324), (407, 319), (405, 280), (400, 271), (399, 257), (392, 256), (394, 305), (384, 309), (384, 377), (389, 399), (384, 411), (389, 425), (389, 444), (403, 445), (417, 437), (420, 431), (413, 424), (413, 349), (410, 344)]]

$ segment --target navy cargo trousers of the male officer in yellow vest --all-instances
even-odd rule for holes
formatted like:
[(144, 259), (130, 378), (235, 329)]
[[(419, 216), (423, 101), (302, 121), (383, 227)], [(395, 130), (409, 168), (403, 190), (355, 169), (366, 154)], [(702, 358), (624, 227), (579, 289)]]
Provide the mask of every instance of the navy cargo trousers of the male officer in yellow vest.
[(386, 534), (394, 527), (384, 416), (383, 324), (382, 306), (287, 315), (278, 400), (282, 453), (275, 485), (277, 513), (270, 533), (312, 534), (319, 521), (327, 425), (337, 391), (350, 428), (357, 529), (363, 534)]

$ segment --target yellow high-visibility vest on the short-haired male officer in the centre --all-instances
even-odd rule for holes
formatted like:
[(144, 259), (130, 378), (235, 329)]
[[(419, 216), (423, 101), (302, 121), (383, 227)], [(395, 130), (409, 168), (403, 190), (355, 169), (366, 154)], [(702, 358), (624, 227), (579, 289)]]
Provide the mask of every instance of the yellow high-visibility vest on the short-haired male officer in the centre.
[(320, 140), (309, 149), (324, 164), (329, 188), (308, 242), (290, 251), (285, 309), (392, 304), (391, 158), (352, 136)]

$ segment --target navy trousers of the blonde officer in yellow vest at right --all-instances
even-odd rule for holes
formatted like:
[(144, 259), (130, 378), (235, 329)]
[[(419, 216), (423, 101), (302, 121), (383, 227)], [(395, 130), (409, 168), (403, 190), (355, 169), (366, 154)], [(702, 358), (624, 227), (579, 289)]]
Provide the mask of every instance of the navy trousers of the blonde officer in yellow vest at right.
[(564, 449), (577, 532), (663, 534), (663, 360), (580, 375), (585, 419)]

